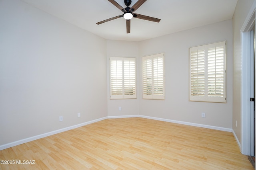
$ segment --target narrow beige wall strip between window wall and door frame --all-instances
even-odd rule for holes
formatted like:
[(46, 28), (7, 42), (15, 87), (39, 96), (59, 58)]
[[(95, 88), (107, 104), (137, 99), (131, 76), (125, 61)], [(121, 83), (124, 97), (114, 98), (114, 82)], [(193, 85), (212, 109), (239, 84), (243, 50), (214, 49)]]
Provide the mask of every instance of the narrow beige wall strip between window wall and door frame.
[[(254, 0), (238, 0), (233, 16), (233, 119), (232, 127), (241, 143), (241, 28)], [(237, 127), (236, 127), (237, 121)]]

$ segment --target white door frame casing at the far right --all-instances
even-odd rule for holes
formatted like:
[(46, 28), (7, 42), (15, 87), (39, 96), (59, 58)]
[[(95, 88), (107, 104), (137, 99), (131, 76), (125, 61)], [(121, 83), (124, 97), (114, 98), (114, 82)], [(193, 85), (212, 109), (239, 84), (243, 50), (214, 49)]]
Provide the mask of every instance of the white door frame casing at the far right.
[(250, 155), (250, 51), (251, 33), (255, 26), (256, 1), (254, 1), (246, 20), (241, 28), (241, 50), (242, 50), (242, 70), (241, 70), (241, 152)]

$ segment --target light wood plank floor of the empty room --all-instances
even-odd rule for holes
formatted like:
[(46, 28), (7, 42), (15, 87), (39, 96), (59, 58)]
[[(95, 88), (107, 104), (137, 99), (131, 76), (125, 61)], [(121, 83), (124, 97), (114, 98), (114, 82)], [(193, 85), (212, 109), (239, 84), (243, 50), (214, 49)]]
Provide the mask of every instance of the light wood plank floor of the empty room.
[(92, 123), (1, 150), (0, 160), (35, 160), (2, 170), (254, 169), (232, 133), (144, 118)]

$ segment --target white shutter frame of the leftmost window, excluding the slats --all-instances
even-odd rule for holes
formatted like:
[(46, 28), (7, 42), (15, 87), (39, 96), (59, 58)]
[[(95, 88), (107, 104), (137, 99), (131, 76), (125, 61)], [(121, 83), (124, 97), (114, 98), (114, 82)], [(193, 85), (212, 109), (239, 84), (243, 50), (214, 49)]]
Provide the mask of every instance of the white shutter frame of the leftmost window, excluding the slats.
[[(119, 89), (119, 91), (117, 90), (116, 94), (113, 94), (113, 88), (112, 88), (112, 83), (114, 81), (112, 81), (114, 78), (112, 76), (112, 61), (119, 61), (119, 64), (120, 64), (120, 61), (122, 61), (122, 73), (120, 73), (120, 68), (119, 68), (119, 73), (117, 74), (122, 74), (122, 78), (120, 79), (119, 77), (119, 86), (120, 86), (120, 81), (122, 81), (122, 90)], [(125, 63), (127, 64), (127, 61), (134, 61), (134, 66), (132, 66), (132, 68), (129, 68), (129, 79), (125, 78), (125, 76), (127, 76), (127, 68), (125, 68)], [(130, 65), (129, 65), (130, 67)], [(114, 68), (113, 68), (114, 69)], [(118, 69), (118, 68), (116, 68)], [(132, 72), (132, 70), (130, 69), (134, 69)], [(126, 72), (126, 75), (125, 75), (125, 72)], [(110, 84), (110, 99), (136, 99), (136, 58), (135, 57), (110, 57), (109, 58), (109, 84)], [(130, 78), (130, 75), (133, 75), (132, 78)], [(119, 75), (120, 76), (120, 75)], [(132, 80), (132, 82), (126, 82), (126, 80)], [(118, 80), (116, 80), (118, 81)], [(117, 83), (117, 82), (115, 82)], [(125, 88), (126, 84), (129, 84), (131, 86), (131, 84), (134, 85), (134, 87), (132, 88), (132, 94), (128, 94), (130, 92), (128, 92)], [(118, 86), (118, 85), (116, 85)], [(118, 94), (118, 92), (121, 92), (122, 94)]]

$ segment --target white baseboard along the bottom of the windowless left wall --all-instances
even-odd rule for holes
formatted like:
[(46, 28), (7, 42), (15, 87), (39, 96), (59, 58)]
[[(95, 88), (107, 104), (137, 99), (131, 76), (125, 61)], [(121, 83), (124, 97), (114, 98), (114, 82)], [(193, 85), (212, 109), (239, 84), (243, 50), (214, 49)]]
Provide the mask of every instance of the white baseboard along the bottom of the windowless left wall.
[(95, 120), (92, 120), (92, 121), (87, 121), (87, 122), (84, 122), (84, 123), (80, 123), (78, 125), (73, 125), (73, 126), (70, 126), (70, 127), (65, 127), (63, 129), (58, 129), (56, 131), (51, 131), (51, 132), (43, 133), (43, 134), (36, 135), (36, 136), (33, 136), (33, 137), (28, 137), (26, 139), (21, 139), (19, 141), (14, 141), (14, 142), (11, 142), (11, 143), (0, 145), (0, 150), (7, 149), (7, 148), (10, 148), (10, 147), (14, 147), (14, 146), (17, 146), (17, 145), (20, 145), (20, 144), (23, 144), (23, 143), (27, 143), (27, 142), (30, 142), (30, 141), (34, 141), (36, 139), (41, 139), (43, 137), (48, 137), (50, 135), (54, 135), (54, 134), (61, 133), (61, 132), (64, 132), (64, 131), (68, 131), (68, 130), (71, 130), (71, 129), (75, 129), (75, 128), (78, 128), (78, 127), (81, 127), (81, 126), (84, 126), (84, 125), (95, 123), (97, 121), (102, 121), (104, 119), (108, 119), (108, 117), (102, 117), (100, 119), (95, 119)]

